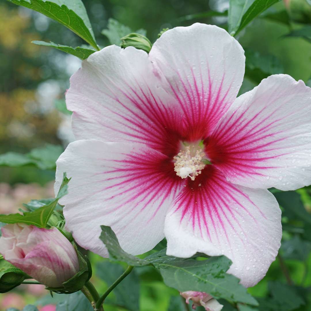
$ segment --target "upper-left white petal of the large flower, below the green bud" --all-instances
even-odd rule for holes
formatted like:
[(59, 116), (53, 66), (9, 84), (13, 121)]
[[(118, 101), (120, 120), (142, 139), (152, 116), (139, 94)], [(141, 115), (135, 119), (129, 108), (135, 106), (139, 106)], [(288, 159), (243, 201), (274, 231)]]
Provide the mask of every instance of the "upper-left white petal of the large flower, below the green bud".
[(142, 50), (111, 45), (93, 53), (66, 94), (75, 137), (142, 142), (162, 152), (163, 137), (180, 128), (182, 111), (160, 86)]

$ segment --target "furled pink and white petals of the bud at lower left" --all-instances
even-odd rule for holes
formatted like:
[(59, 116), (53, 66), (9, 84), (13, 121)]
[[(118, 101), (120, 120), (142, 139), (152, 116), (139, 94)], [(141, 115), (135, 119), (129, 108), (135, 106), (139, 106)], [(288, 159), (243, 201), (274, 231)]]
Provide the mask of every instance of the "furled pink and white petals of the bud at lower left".
[(12, 224), (1, 231), (0, 253), (4, 259), (40, 283), (62, 287), (79, 272), (76, 250), (58, 229)]

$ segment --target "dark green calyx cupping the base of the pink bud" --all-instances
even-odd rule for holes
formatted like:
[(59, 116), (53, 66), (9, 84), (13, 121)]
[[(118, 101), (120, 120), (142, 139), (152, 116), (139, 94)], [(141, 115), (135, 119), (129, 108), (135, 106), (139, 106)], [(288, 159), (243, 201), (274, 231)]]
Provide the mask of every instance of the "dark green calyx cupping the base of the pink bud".
[(90, 280), (92, 276), (92, 267), (87, 256), (83, 256), (77, 249), (77, 245), (72, 242), (73, 247), (75, 248), (79, 260), (80, 271), (72, 276), (69, 280), (63, 282), (63, 287), (52, 288), (46, 287), (47, 290), (51, 290), (59, 294), (71, 294), (85, 285), (87, 281)]

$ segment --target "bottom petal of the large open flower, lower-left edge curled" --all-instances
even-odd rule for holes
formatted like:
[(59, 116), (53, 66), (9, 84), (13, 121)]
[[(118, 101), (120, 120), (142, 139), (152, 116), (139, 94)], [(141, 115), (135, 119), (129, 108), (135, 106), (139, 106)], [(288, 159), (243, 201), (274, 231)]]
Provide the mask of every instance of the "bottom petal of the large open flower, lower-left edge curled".
[(228, 183), (213, 168), (184, 187), (165, 218), (167, 254), (225, 255), (229, 273), (247, 287), (258, 283), (281, 245), (281, 210), (267, 190)]

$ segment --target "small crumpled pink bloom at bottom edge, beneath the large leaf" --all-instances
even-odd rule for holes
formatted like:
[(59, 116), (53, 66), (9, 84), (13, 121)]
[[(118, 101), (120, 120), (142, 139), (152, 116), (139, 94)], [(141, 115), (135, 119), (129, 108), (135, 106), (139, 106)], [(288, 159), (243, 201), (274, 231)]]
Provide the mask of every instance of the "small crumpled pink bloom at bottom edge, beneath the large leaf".
[(211, 295), (203, 292), (188, 290), (186, 292), (180, 293), (180, 295), (186, 299), (187, 304), (189, 304), (189, 299), (193, 301), (192, 309), (196, 309), (196, 307), (202, 306), (206, 311), (220, 311), (223, 307), (223, 305), (220, 304)]

